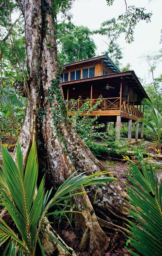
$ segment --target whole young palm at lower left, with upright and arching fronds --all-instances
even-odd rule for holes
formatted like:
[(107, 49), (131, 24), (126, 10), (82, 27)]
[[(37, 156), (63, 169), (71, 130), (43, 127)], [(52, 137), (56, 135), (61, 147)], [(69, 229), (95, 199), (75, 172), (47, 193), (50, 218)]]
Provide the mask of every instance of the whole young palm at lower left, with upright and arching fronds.
[[(0, 199), (5, 209), (13, 219), (14, 225), (7, 225), (0, 218), (0, 245), (7, 241), (3, 255), (36, 255), (36, 245), (39, 243), (42, 255), (45, 255), (40, 241), (40, 232), (46, 232), (60, 244), (57, 238), (51, 236), (45, 229), (47, 216), (58, 215), (59, 213), (69, 213), (69, 210), (57, 210), (63, 205), (66, 199), (73, 195), (78, 195), (78, 189), (97, 184), (103, 186), (103, 182), (116, 180), (112, 177), (103, 176), (108, 171), (95, 173), (92, 175), (72, 173), (68, 179), (58, 188), (52, 199), (52, 189), (45, 193), (45, 177), (41, 180), (38, 192), (36, 191), (38, 177), (38, 161), (35, 142), (32, 144), (25, 171), (23, 171), (23, 160), (20, 144), (17, 144), (17, 166), (2, 146), (3, 169), (0, 170)], [(77, 191), (76, 191), (77, 190)], [(74, 192), (73, 194), (70, 192)], [(50, 209), (52, 208), (52, 212)], [(12, 224), (12, 222), (11, 222)], [(19, 234), (19, 235), (17, 235)], [(61, 244), (60, 244), (61, 245)], [(65, 250), (66, 248), (61, 245)], [(12, 253), (11, 253), (12, 252)]]

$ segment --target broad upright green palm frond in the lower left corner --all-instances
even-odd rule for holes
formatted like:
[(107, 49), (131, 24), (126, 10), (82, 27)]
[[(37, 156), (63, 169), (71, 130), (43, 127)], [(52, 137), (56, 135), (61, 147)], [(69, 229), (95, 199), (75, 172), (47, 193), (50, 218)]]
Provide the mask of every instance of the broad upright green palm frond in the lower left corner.
[(2, 186), (0, 187), (1, 199), (16, 224), (25, 245), (29, 251), (32, 251), (44, 198), (43, 179), (33, 203), (38, 177), (36, 144), (32, 144), (25, 172), (23, 172), (22, 153), (19, 144), (17, 146), (18, 167), (4, 146), (2, 146), (2, 161), (7, 187), (11, 192), (13, 201), (5, 193)]

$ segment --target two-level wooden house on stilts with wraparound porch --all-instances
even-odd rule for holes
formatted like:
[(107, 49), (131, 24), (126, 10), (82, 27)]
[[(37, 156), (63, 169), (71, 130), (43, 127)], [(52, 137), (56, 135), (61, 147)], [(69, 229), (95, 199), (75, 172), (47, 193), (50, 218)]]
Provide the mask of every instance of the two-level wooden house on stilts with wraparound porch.
[[(99, 115), (99, 120), (116, 122), (117, 138), (120, 138), (121, 122), (128, 122), (128, 141), (131, 142), (132, 122), (143, 118), (143, 98), (148, 98), (134, 71), (121, 72), (108, 55), (63, 65), (61, 84), (64, 99), (77, 100), (76, 110), (85, 99), (96, 103), (100, 95), (103, 100), (90, 116)], [(75, 111), (75, 110), (74, 110)], [(71, 115), (74, 112), (71, 112)], [(85, 115), (86, 112), (83, 113)], [(139, 124), (136, 124), (135, 140), (138, 140)], [(143, 138), (141, 124), (140, 138)]]

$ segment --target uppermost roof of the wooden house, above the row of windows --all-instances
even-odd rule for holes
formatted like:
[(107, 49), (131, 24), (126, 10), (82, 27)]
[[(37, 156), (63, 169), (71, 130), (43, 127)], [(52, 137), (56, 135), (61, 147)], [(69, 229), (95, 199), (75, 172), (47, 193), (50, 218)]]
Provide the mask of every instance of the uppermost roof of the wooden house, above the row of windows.
[(93, 57), (93, 58), (90, 58), (90, 59), (84, 59), (82, 61), (72, 62), (72, 63), (69, 63), (69, 64), (65, 64), (61, 67), (66, 68), (66, 67), (69, 67), (69, 66), (74, 66), (74, 65), (78, 65), (78, 64), (82, 64), (82, 63), (88, 63), (90, 61), (96, 61), (98, 59), (102, 59), (104, 61), (104, 63), (108, 66), (108, 68), (110, 68), (113, 71), (113, 73), (121, 72), (121, 70), (117, 67), (117, 65), (112, 61), (112, 59), (107, 54), (97, 56), (97, 57)]

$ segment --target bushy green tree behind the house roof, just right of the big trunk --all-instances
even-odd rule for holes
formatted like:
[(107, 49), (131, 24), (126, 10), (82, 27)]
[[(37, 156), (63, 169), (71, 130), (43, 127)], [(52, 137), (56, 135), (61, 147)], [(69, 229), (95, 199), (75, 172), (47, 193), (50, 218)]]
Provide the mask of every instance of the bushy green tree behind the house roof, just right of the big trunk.
[(62, 22), (56, 25), (56, 35), (61, 65), (95, 56), (96, 45), (87, 27)]

